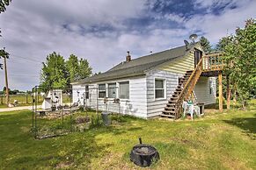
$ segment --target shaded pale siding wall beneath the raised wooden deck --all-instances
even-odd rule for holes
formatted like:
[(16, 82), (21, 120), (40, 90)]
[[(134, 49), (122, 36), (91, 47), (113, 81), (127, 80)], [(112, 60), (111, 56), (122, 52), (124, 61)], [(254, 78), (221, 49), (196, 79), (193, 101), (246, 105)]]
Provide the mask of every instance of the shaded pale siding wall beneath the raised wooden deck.
[[(210, 94), (210, 81), (212, 81), (212, 93)], [(216, 77), (200, 77), (194, 87), (194, 93), (198, 103), (205, 105), (216, 103)]]

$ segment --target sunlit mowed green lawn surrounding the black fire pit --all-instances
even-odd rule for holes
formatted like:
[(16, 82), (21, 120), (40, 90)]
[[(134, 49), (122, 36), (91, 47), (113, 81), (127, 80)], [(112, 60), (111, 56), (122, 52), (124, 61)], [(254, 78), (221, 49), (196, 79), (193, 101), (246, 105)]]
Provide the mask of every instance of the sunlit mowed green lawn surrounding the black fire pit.
[(42, 140), (31, 112), (0, 113), (0, 169), (139, 169), (129, 160), (138, 137), (160, 154), (152, 169), (256, 169), (255, 102), (194, 121), (112, 117), (110, 127)]

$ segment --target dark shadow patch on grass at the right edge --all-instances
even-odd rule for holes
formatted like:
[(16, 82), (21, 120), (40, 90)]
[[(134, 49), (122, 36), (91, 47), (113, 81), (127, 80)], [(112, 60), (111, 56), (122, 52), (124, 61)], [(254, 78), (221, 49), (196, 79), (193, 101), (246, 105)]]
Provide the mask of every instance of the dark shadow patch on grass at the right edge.
[(237, 126), (242, 129), (246, 135), (256, 139), (256, 114), (253, 117), (237, 117), (230, 120), (223, 120), (227, 124)]

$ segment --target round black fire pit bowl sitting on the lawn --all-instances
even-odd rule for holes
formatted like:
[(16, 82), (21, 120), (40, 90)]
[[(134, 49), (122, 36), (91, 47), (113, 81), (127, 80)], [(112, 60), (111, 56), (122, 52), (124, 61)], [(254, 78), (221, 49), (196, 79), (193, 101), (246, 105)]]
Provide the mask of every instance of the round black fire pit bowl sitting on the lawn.
[(135, 145), (130, 153), (130, 159), (137, 166), (150, 166), (159, 159), (157, 149), (152, 145), (139, 144)]

